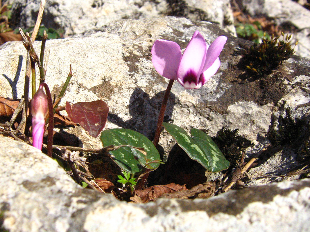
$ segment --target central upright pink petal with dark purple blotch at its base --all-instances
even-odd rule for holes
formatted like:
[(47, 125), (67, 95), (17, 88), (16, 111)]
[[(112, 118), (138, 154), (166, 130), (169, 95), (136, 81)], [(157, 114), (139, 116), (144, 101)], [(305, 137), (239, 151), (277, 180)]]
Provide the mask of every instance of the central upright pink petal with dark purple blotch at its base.
[[(184, 86), (193, 86), (193, 81), (195, 81), (195, 85), (197, 84), (205, 64), (206, 51), (206, 41), (203, 36), (196, 31), (184, 51), (177, 73), (179, 82), (184, 83)], [(195, 78), (193, 78), (193, 76)], [(185, 84), (186, 82), (188, 82), (188, 84)]]

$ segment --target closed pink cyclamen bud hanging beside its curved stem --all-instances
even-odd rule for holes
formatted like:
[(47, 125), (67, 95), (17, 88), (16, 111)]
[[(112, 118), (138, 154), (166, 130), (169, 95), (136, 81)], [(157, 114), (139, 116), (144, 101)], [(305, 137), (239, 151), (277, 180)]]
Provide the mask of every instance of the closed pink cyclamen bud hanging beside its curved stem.
[(32, 145), (41, 150), (45, 127), (44, 118), (47, 113), (47, 97), (41, 86), (34, 94), (30, 104), (32, 114)]

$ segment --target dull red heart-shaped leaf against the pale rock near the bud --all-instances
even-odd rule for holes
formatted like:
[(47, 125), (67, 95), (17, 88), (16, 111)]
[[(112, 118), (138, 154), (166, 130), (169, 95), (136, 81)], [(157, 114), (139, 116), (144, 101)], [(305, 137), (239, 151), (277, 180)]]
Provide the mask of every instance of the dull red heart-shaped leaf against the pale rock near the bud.
[(97, 137), (107, 122), (109, 108), (104, 101), (66, 102), (66, 111), (69, 118), (81, 125), (89, 135)]

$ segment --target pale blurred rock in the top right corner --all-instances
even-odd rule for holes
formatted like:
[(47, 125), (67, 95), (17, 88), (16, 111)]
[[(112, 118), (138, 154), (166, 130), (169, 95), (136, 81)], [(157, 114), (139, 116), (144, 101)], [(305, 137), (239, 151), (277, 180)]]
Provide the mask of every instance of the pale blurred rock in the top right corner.
[(292, 42), (298, 41), (296, 55), (310, 58), (310, 11), (292, 0), (241, 0), (241, 9), (252, 17), (273, 19), (284, 31), (293, 31)]

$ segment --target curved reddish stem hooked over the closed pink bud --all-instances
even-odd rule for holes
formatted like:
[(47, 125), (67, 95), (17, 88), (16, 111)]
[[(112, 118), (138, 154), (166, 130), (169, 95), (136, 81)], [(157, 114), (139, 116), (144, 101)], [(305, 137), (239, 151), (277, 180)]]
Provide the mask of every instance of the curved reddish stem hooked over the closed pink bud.
[(45, 88), (47, 102), (48, 102), (48, 133), (47, 133), (47, 155), (52, 157), (53, 152), (53, 127), (54, 127), (54, 112), (53, 112), (53, 101), (51, 97), (50, 89), (47, 84), (42, 82), (40, 87)]

